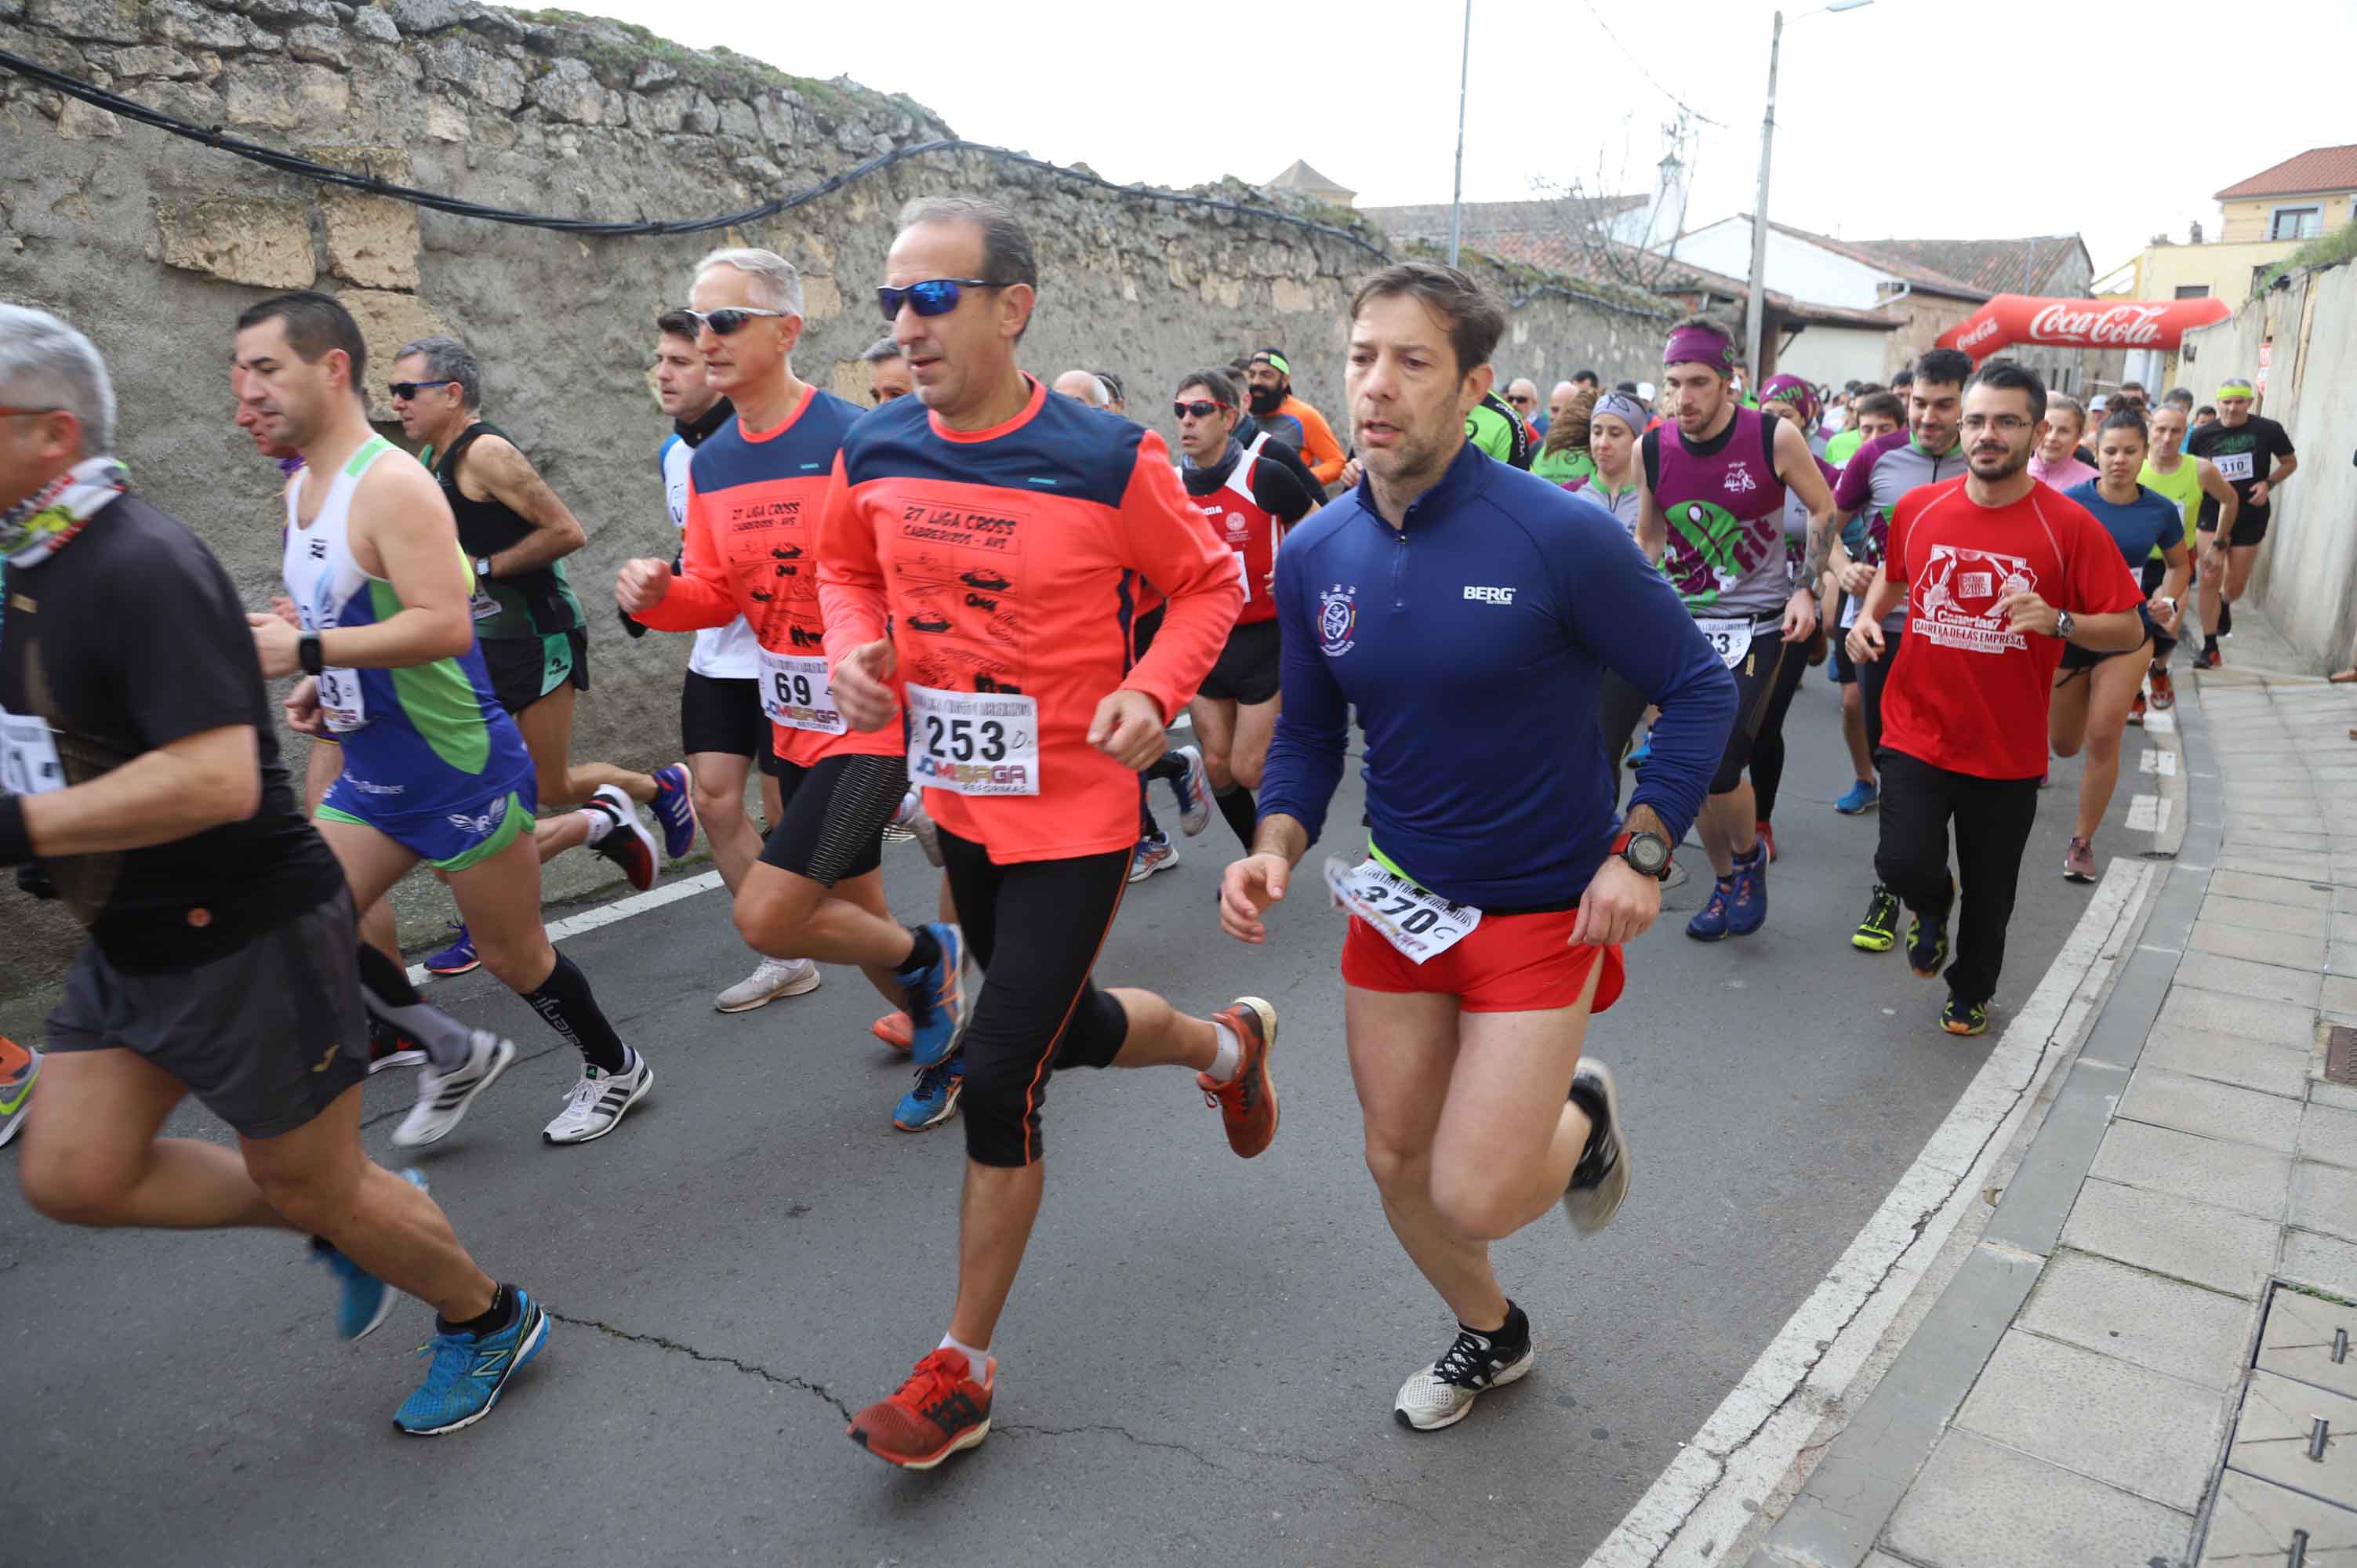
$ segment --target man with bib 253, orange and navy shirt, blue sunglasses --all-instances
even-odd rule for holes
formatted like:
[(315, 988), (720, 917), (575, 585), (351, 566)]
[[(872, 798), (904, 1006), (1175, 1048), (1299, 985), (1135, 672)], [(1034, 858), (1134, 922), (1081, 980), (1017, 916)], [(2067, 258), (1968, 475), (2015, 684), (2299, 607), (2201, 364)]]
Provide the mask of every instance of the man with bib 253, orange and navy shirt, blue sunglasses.
[[(957, 1306), (940, 1346), (853, 1417), (851, 1438), (931, 1469), (990, 1434), (990, 1339), (1039, 1212), (1049, 1078), (1190, 1068), (1230, 1148), (1252, 1158), (1277, 1132), (1277, 1021), (1254, 997), (1193, 1019), (1089, 974), (1127, 887), (1136, 771), (1242, 608), (1235, 556), (1157, 434), (1049, 396), (1016, 363), (1039, 264), (1014, 212), (919, 198), (884, 276), (917, 398), (870, 413), (837, 457), (818, 547), (827, 653), (856, 729), (898, 738), (905, 710), (910, 773), (985, 981), (964, 1035)], [(1138, 578), (1169, 608), (1129, 667)]]

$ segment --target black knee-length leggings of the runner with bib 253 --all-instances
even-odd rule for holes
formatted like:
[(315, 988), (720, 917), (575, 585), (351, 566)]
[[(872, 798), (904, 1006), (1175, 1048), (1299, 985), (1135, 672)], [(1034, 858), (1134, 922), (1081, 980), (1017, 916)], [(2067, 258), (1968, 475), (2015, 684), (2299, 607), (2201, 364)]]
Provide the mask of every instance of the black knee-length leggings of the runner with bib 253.
[[(943, 828), (940, 861), (985, 976), (962, 1045), (966, 1158), (1030, 1165), (1049, 1073), (1113, 1066), (1129, 1037), (1129, 1014), (1089, 976), (1129, 887), (1129, 851), (999, 865)], [(999, 931), (1006, 962), (992, 962)]]

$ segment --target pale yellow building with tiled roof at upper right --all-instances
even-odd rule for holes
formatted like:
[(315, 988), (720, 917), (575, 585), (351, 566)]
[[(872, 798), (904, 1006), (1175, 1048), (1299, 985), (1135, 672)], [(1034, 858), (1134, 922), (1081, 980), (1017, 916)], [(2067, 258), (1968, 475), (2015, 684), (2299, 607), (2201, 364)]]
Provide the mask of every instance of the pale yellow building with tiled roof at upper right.
[[(2300, 243), (2357, 219), (2357, 146), (2317, 146), (2218, 191), (2218, 238), (2150, 245), (2098, 281), (2128, 299), (2225, 299), (2242, 309), (2253, 285)], [(2199, 236), (2199, 229), (2197, 229)]]

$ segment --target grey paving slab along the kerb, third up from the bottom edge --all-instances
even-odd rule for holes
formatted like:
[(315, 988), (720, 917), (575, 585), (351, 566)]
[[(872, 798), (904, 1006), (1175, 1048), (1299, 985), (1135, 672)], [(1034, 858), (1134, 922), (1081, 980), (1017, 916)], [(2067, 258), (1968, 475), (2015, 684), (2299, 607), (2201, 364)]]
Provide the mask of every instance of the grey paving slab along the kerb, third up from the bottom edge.
[(2058, 1252), (2015, 1323), (2223, 1394), (2251, 1363), (2258, 1304), (2107, 1257)]

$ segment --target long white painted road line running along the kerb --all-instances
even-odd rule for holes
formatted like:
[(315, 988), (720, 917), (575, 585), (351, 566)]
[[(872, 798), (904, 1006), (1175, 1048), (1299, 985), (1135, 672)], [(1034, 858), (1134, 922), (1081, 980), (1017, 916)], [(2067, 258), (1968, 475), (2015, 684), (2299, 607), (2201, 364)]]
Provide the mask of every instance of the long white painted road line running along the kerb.
[(2114, 938), (2161, 872), (2114, 858), (2046, 979), (1867, 1228), (1586, 1568), (1709, 1568), (1791, 1471), (1827, 1410), (1881, 1344), (1989, 1167), (2039, 1099), (2119, 962)]

